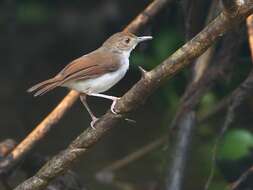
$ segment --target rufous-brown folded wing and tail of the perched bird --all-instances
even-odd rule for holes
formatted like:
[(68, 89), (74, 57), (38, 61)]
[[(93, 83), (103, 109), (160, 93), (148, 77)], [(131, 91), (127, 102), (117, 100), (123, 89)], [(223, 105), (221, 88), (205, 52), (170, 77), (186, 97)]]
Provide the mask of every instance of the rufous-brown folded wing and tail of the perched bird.
[(105, 73), (113, 72), (119, 67), (119, 57), (112, 56), (109, 52), (96, 50), (75, 59), (54, 78), (31, 87), (28, 92), (37, 91), (34, 96), (43, 95), (66, 82), (95, 78)]

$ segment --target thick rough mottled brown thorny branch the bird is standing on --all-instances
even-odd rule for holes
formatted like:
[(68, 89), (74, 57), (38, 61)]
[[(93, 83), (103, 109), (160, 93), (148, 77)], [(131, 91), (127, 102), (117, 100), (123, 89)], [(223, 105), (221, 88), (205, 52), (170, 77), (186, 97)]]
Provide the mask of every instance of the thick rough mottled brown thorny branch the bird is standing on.
[(253, 10), (253, 1), (240, 6), (234, 16), (222, 12), (212, 23), (191, 41), (177, 50), (155, 69), (147, 72), (116, 104), (115, 115), (108, 111), (95, 125), (96, 130), (89, 127), (81, 133), (67, 149), (54, 156), (33, 177), (29, 178), (16, 190), (39, 190), (45, 188), (56, 176), (68, 170), (74, 161), (86, 153), (97, 143), (126, 113), (140, 106), (147, 97), (157, 89), (166, 79), (186, 67), (194, 58), (201, 55), (220, 36), (244, 19)]

